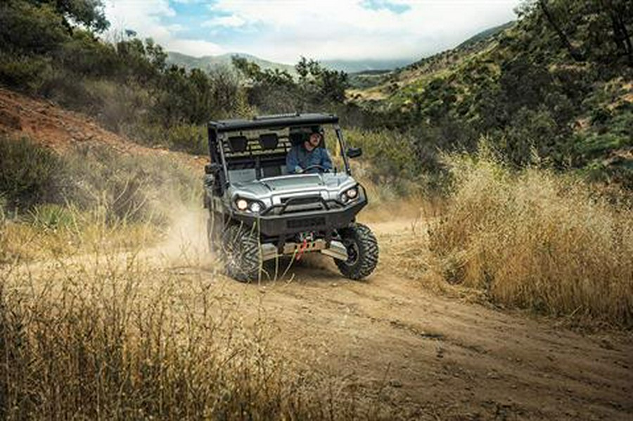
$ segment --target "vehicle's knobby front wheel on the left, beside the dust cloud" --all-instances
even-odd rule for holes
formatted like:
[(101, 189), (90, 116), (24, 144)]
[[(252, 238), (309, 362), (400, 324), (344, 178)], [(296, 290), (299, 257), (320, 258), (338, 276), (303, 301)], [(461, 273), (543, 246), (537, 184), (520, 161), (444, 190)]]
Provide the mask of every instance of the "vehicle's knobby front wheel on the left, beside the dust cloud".
[(222, 260), (226, 275), (252, 282), (260, 275), (260, 241), (257, 232), (244, 225), (231, 225), (222, 235)]

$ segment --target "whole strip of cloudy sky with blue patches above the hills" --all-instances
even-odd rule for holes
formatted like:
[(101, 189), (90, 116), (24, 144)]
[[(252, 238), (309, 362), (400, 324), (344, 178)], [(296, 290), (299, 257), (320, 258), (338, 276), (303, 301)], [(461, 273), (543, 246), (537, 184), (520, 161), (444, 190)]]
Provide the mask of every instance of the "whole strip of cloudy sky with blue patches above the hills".
[(134, 30), (189, 56), (294, 64), (421, 58), (515, 18), (519, 0), (105, 0), (107, 37)]

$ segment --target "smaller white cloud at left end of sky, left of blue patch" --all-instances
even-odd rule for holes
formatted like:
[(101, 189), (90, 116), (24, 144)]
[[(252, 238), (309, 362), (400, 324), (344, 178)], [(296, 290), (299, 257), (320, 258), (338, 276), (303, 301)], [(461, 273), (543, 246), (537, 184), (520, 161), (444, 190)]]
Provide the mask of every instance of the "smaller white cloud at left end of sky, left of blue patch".
[(173, 18), (176, 15), (167, 0), (108, 0), (105, 11), (110, 20), (110, 30), (107, 34), (110, 38), (117, 39), (124, 30), (134, 30), (140, 38), (153, 38), (168, 51), (179, 51), (198, 57), (226, 52), (214, 42), (179, 37), (179, 32), (186, 29), (182, 25), (162, 24), (162, 18)]

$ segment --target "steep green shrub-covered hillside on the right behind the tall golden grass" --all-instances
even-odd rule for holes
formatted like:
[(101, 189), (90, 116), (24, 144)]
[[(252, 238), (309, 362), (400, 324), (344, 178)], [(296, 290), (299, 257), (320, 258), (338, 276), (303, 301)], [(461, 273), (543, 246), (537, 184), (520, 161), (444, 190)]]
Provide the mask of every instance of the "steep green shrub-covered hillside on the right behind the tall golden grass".
[[(613, 29), (606, 11), (558, 1), (549, 7), (547, 15), (526, 4), (516, 23), (383, 75), (348, 98), (418, 133), (426, 154), (433, 146), (473, 151), (485, 136), (518, 168), (574, 170), (631, 189), (633, 51), (614, 40), (621, 25)], [(622, 7), (630, 33), (633, 11)], [(580, 29), (591, 19), (604, 37)]]

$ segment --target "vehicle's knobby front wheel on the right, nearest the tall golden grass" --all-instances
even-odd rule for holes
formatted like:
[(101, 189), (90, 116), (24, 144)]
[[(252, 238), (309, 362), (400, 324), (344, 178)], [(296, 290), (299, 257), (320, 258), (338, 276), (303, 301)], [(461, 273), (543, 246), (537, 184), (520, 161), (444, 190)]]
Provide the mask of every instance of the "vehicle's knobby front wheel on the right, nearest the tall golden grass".
[(378, 265), (378, 241), (366, 225), (354, 223), (338, 230), (347, 249), (347, 260), (334, 259), (338, 270), (350, 279), (363, 279), (371, 275)]

